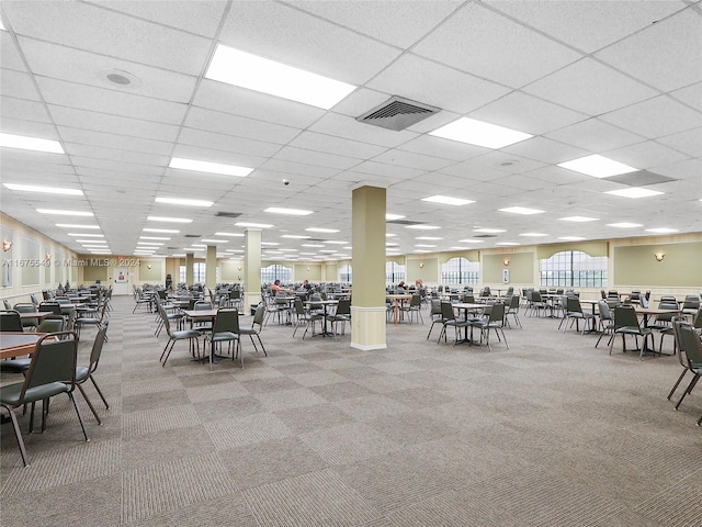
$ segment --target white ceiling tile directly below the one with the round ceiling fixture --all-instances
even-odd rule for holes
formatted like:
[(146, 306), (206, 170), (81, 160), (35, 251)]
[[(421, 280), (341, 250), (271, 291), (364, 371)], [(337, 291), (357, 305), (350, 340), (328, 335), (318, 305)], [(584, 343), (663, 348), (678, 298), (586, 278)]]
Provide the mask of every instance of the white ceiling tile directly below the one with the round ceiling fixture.
[(110, 89), (73, 85), (45, 77), (37, 78), (37, 82), (46, 102), (80, 110), (168, 124), (180, 124), (186, 110), (185, 104), (159, 101)]

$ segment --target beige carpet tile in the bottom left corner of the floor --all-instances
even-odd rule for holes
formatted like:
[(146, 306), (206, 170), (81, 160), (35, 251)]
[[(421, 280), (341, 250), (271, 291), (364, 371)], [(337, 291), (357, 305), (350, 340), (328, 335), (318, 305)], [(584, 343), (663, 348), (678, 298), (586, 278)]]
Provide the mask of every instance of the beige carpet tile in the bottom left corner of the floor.
[[(25, 470), (32, 470), (32, 467)], [(22, 493), (9, 503), (3, 501), (0, 525), (118, 527), (121, 485), (121, 474), (113, 474)]]

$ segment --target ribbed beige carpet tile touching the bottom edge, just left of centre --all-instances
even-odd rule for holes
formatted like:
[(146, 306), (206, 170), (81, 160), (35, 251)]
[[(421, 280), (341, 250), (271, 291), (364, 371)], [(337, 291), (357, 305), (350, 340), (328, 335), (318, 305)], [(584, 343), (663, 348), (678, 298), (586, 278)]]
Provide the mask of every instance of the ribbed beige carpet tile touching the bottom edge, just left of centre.
[(261, 525), (354, 526), (377, 512), (331, 471), (318, 471), (244, 491)]

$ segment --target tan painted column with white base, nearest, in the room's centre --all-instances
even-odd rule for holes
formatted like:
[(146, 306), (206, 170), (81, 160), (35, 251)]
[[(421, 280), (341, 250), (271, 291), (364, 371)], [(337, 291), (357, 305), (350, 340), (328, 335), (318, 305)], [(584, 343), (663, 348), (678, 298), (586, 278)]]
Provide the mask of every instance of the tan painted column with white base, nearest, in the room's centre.
[(351, 347), (385, 349), (385, 189), (353, 191)]

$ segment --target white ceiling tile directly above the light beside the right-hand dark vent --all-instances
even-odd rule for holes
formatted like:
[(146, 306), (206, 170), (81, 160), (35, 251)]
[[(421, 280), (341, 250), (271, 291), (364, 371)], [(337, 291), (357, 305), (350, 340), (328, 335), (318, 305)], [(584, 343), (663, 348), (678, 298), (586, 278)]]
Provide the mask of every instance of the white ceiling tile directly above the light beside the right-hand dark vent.
[(592, 153), (601, 153), (620, 146), (641, 143), (641, 135), (612, 126), (599, 119), (588, 119), (565, 128), (545, 134), (550, 137)]

